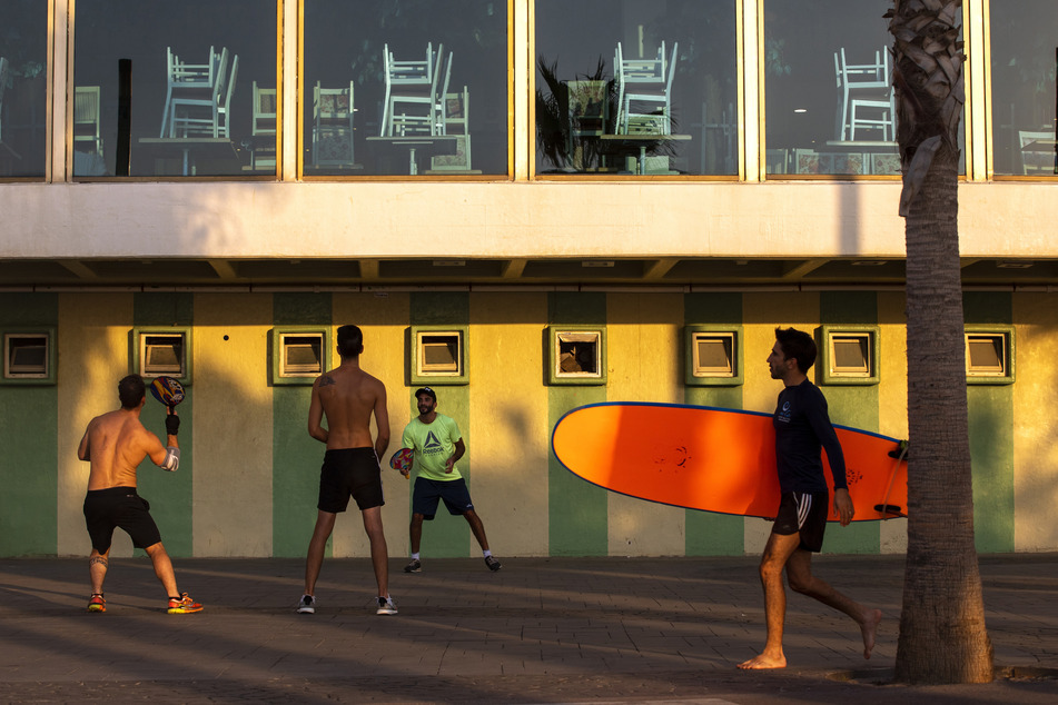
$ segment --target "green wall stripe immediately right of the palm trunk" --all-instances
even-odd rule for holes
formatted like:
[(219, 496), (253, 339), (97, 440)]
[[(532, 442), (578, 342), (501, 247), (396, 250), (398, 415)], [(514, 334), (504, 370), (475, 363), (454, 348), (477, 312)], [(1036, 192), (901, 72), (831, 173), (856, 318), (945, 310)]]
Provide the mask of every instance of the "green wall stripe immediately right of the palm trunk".
[[(962, 301), (968, 324), (1010, 325), (1013, 320), (1010, 294), (973, 291), (965, 294)], [(1010, 553), (1015, 549), (1013, 385), (968, 385), (967, 410), (977, 549)]]

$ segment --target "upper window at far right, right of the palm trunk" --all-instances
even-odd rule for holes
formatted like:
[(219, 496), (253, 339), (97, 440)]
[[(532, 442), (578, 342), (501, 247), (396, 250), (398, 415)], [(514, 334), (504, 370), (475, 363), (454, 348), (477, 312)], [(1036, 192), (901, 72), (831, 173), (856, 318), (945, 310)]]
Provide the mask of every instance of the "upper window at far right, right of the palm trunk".
[(1058, 176), (1054, 0), (991, 0), (992, 172)]

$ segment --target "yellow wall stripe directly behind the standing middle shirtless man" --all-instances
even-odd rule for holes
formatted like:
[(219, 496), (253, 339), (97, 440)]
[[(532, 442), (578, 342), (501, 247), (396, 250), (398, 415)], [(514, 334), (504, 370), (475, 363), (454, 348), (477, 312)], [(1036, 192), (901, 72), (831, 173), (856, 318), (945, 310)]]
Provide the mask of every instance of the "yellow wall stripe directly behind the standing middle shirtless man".
[[(350, 292), (335, 294), (332, 302), (335, 327), (332, 341), (339, 326), (354, 324), (364, 332), (364, 354), (360, 367), (386, 385), (389, 410), (389, 448), (382, 464), (382, 487), (386, 504), (382, 508), (382, 523), (386, 532), (389, 556), (406, 555), (408, 550), (408, 519), (411, 517), (411, 489), (408, 481), (389, 467), (389, 456), (401, 447), (401, 434), (412, 418), (409, 391), (404, 377), (404, 335), (408, 319), (408, 295), (405, 292)], [(334, 352), (334, 365), (339, 364)], [(308, 409), (305, 409), (306, 415)], [(308, 417), (306, 416), (306, 419)], [(377, 437), (377, 429), (373, 429)], [(319, 463), (323, 463), (324, 445), (319, 444)], [(319, 481), (318, 474), (314, 481)], [(336, 557), (366, 557), (370, 546), (364, 533), (359, 513), (350, 505), (346, 516), (335, 522), (333, 550)]]

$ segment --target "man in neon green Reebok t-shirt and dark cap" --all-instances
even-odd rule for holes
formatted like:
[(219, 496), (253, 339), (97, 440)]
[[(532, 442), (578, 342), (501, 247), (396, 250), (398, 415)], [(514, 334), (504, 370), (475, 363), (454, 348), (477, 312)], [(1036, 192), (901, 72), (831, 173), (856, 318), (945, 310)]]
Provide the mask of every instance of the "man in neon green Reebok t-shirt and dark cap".
[(455, 420), (437, 413), (437, 395), (429, 387), (415, 391), (418, 417), (413, 418), (404, 428), (402, 447), (415, 451), (412, 467), (417, 469), (415, 487), (412, 490), (412, 524), (408, 533), (412, 539), (412, 562), (404, 567), (405, 573), (419, 573), (419, 545), (423, 539), (423, 522), (432, 520), (437, 514), (437, 504), (443, 499), (448, 514), (463, 515), (471, 525), (471, 532), (482, 547), (485, 565), (490, 570), (498, 570), (500, 560), (488, 549), (485, 526), (474, 512), (466, 480), (455, 464), (466, 453), (466, 444)]

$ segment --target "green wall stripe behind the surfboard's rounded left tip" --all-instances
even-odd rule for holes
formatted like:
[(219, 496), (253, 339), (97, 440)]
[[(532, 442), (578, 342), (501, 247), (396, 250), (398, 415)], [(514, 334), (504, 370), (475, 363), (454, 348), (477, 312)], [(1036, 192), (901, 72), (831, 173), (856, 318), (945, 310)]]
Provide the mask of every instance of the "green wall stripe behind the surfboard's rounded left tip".
[[(556, 291), (547, 295), (548, 325), (603, 326), (605, 321), (605, 294)], [(605, 400), (606, 388), (601, 386), (555, 385), (550, 387), (547, 428), (553, 429), (558, 419), (573, 408)], [(547, 458), (550, 554), (552, 556), (607, 555), (610, 552), (607, 490), (590, 485), (570, 473), (558, 463), (554, 453), (548, 451)]]

